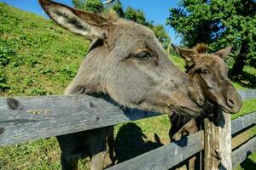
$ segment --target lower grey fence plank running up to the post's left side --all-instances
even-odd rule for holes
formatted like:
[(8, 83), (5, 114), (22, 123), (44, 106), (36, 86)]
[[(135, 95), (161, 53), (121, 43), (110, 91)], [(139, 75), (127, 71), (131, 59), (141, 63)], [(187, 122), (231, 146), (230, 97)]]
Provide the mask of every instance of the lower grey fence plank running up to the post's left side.
[(203, 131), (200, 131), (177, 141), (177, 144), (166, 144), (106, 170), (166, 170), (203, 150), (203, 141)]

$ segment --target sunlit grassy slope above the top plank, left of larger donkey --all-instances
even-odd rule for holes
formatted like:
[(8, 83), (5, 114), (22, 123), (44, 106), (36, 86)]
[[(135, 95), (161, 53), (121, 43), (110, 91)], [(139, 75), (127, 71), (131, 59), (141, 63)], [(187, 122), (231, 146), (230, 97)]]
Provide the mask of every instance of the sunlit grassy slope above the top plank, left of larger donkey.
[(2, 96), (62, 94), (89, 44), (52, 21), (4, 3), (0, 32)]

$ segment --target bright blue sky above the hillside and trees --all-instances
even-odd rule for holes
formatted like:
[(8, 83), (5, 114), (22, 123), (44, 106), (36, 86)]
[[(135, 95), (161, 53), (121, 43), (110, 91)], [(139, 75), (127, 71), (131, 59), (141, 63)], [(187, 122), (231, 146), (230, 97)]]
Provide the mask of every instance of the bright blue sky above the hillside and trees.
[[(147, 20), (154, 20), (155, 24), (165, 25), (166, 18), (169, 15), (169, 8), (177, 7), (178, 0), (121, 0), (124, 8), (131, 6), (137, 9), (143, 9)], [(38, 0), (0, 0), (0, 2), (8, 3), (16, 8), (30, 11), (35, 14), (42, 14), (42, 8), (38, 4)], [(55, 0), (55, 2), (64, 3), (73, 6), (72, 0)], [(175, 31), (170, 26), (166, 26), (172, 42), (179, 43), (180, 38), (177, 37)]]

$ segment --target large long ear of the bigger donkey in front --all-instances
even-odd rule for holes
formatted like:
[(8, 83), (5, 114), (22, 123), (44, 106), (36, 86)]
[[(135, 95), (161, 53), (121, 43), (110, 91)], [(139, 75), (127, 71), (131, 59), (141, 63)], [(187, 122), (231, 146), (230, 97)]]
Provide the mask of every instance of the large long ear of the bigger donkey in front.
[(68, 31), (90, 40), (108, 37), (107, 28), (112, 23), (98, 14), (87, 13), (49, 0), (39, 0), (39, 3), (52, 20)]

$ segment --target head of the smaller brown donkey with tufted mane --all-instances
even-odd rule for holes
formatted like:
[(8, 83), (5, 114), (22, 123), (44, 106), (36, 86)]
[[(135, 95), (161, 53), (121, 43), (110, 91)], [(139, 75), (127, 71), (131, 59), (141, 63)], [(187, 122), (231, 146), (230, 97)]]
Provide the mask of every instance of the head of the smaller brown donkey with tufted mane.
[(224, 58), (230, 54), (231, 47), (219, 50), (214, 54), (206, 54), (205, 44), (197, 44), (195, 48), (178, 48), (172, 45), (186, 62), (190, 77), (201, 87), (205, 98), (212, 104), (221, 105), (224, 111), (236, 113), (241, 110), (242, 100), (228, 78), (228, 67)]

